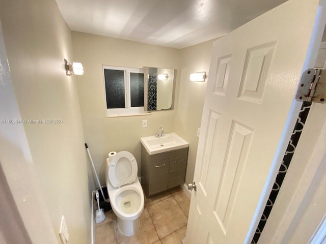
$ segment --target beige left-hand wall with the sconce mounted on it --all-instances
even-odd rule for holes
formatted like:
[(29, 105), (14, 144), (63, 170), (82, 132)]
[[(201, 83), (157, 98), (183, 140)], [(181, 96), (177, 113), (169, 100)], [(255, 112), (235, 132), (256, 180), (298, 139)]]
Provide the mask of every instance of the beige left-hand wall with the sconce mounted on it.
[[(45, 203), (57, 241), (64, 215), (69, 243), (89, 243), (90, 191), (83, 127), (76, 81), (74, 76), (66, 76), (63, 62), (64, 58), (73, 60), (70, 29), (53, 0), (0, 0), (0, 3), (5, 46), (21, 117), (63, 120), (62, 124), (23, 125), (33, 159), (32, 173), (41, 189), (39, 200)], [(22, 169), (16, 170), (19, 175)], [(38, 218), (33, 211), (30, 215)]]

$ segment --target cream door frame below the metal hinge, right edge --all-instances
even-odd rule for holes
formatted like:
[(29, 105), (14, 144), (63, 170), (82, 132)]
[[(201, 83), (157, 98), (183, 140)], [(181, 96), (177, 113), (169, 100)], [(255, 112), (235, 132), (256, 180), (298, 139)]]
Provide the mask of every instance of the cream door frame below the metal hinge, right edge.
[[(296, 228), (305, 211), (313, 204), (314, 193), (322, 187), (326, 176), (325, 108), (326, 104), (311, 106), (281, 190), (259, 238), (261, 243), (291, 243), (289, 240), (297, 234)], [(310, 221), (306, 233), (300, 233), (302, 238), (309, 239), (320, 220)]]

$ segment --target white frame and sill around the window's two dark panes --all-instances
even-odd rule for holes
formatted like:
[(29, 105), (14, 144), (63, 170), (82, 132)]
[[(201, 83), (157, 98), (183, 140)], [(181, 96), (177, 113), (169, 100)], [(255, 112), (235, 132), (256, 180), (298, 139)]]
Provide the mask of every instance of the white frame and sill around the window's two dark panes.
[[(104, 70), (105, 69), (124, 71), (125, 108), (107, 108), (105, 75), (104, 75)], [(103, 73), (105, 108), (106, 108), (106, 116), (107, 117), (132, 116), (132, 115), (144, 115), (144, 114), (148, 115), (149, 114), (147, 111), (144, 110), (144, 106), (143, 107), (131, 107), (130, 73), (144, 74), (144, 69), (142, 69), (142, 68), (131, 68), (131, 67), (102, 65), (102, 73)], [(145, 77), (144, 77), (144, 83), (145, 83)], [(144, 84), (144, 87), (145, 87), (145, 84)], [(144, 91), (144, 93), (145, 93), (145, 91)], [(144, 94), (144, 96), (145, 96), (145, 94)]]

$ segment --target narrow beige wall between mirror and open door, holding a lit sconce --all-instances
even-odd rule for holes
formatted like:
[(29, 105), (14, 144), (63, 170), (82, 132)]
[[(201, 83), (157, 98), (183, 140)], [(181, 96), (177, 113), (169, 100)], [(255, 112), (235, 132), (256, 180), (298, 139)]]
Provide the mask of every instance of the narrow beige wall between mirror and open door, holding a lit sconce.
[(192, 183), (198, 147), (197, 128), (200, 128), (207, 78), (205, 82), (189, 80), (191, 73), (206, 71), (208, 76), (211, 48), (214, 40), (181, 49), (181, 78), (176, 104), (175, 132), (189, 142), (185, 184)]

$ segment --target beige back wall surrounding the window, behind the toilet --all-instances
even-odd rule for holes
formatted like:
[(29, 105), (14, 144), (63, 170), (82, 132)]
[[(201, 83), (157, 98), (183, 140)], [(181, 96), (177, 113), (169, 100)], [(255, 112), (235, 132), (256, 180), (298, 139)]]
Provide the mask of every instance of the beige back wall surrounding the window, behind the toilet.
[[(84, 75), (76, 79), (85, 141), (101, 184), (105, 184), (105, 159), (110, 151), (130, 151), (138, 162), (140, 175), (140, 138), (154, 135), (159, 127), (166, 133), (174, 132), (175, 110), (106, 117), (102, 65), (179, 69), (180, 50), (79, 32), (72, 32), (72, 41), (74, 60), (84, 66)], [(142, 128), (143, 119), (148, 119), (147, 128)], [(89, 174), (92, 178), (91, 171)]]

